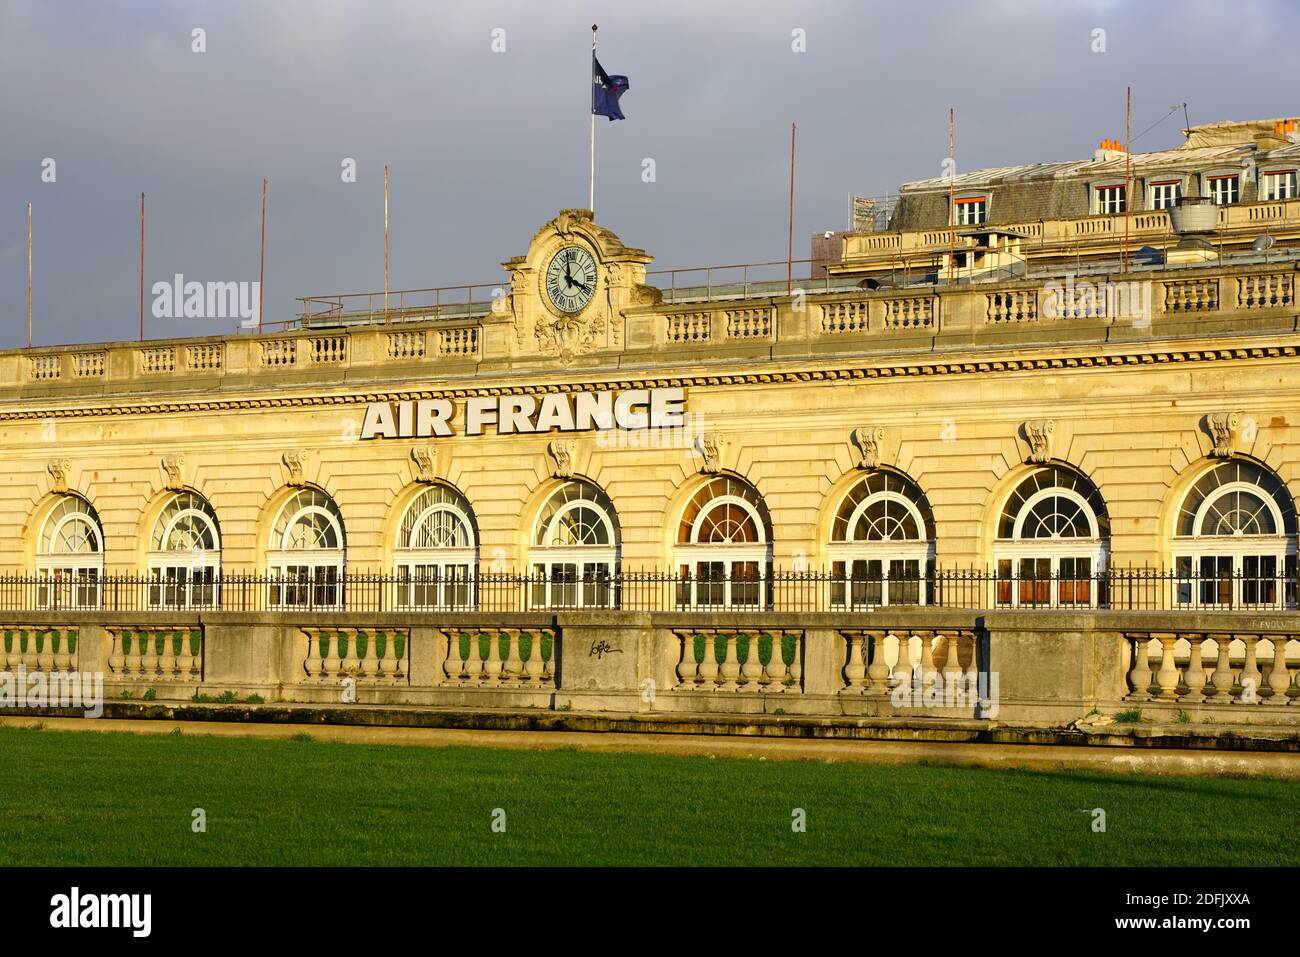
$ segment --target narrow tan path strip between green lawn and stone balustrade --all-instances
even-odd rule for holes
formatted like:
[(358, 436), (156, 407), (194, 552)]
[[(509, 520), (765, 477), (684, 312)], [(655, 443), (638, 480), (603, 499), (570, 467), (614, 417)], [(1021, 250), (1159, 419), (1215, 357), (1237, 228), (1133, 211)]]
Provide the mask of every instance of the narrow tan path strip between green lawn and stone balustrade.
[(1039, 771), (1123, 771), (1156, 775), (1234, 775), (1300, 780), (1300, 754), (1258, 752), (0, 716), (0, 724), (31, 726), (38, 723), (51, 731), (129, 731), (144, 735), (169, 735), (181, 728), (185, 735), (256, 739), (282, 739), (307, 733), (317, 741), (422, 748), (514, 748), (524, 750), (576, 748), (606, 753), (757, 758), (759, 761), (822, 761), (864, 765), (926, 762), (966, 767), (1026, 767)]

